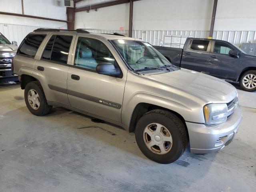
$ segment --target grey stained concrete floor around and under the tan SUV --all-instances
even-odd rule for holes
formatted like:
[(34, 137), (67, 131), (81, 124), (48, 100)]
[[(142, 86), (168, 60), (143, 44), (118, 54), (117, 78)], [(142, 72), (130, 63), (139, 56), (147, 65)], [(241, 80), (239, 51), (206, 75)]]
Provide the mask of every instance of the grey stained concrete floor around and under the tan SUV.
[(255, 192), (256, 92), (238, 92), (244, 119), (229, 146), (163, 165), (134, 133), (63, 108), (34, 116), (19, 85), (0, 86), (0, 191)]

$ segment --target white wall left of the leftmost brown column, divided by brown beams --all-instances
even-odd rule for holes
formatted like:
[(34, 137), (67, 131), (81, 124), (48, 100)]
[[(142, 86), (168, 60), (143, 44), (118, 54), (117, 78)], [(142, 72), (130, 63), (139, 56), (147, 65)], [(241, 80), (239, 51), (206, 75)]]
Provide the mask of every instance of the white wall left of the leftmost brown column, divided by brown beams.
[[(0, 11), (22, 14), (21, 0), (0, 0)], [(24, 14), (66, 20), (64, 0), (24, 0)], [(67, 28), (66, 22), (0, 14), (0, 32), (18, 44), (37, 28)]]

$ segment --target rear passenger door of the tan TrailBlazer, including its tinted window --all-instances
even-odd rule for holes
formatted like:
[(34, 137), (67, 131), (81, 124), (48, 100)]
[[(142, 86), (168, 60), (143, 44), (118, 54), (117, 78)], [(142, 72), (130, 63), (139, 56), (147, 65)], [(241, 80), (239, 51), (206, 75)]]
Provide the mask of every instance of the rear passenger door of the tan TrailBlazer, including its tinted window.
[(34, 74), (38, 76), (46, 99), (50, 102), (70, 106), (67, 95), (68, 69), (72, 52), (70, 48), (76, 34), (52, 34), (46, 40), (40, 60), (34, 65)]

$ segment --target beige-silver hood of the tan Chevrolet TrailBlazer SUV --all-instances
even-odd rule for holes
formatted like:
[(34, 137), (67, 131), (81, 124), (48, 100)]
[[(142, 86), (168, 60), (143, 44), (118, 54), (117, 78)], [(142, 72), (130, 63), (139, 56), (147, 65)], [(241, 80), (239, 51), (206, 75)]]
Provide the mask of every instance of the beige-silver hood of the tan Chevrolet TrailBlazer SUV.
[(164, 83), (180, 91), (203, 100), (207, 103), (227, 103), (237, 96), (234, 86), (218, 78), (181, 68), (173, 72), (149, 75), (151, 80)]

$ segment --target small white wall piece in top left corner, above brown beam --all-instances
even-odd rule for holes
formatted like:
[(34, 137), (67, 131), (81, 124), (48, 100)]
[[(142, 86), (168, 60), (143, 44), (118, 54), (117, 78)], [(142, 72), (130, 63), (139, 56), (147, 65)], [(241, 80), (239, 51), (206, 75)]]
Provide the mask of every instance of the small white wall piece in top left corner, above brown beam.
[(0, 11), (22, 14), (21, 0), (0, 0)]

